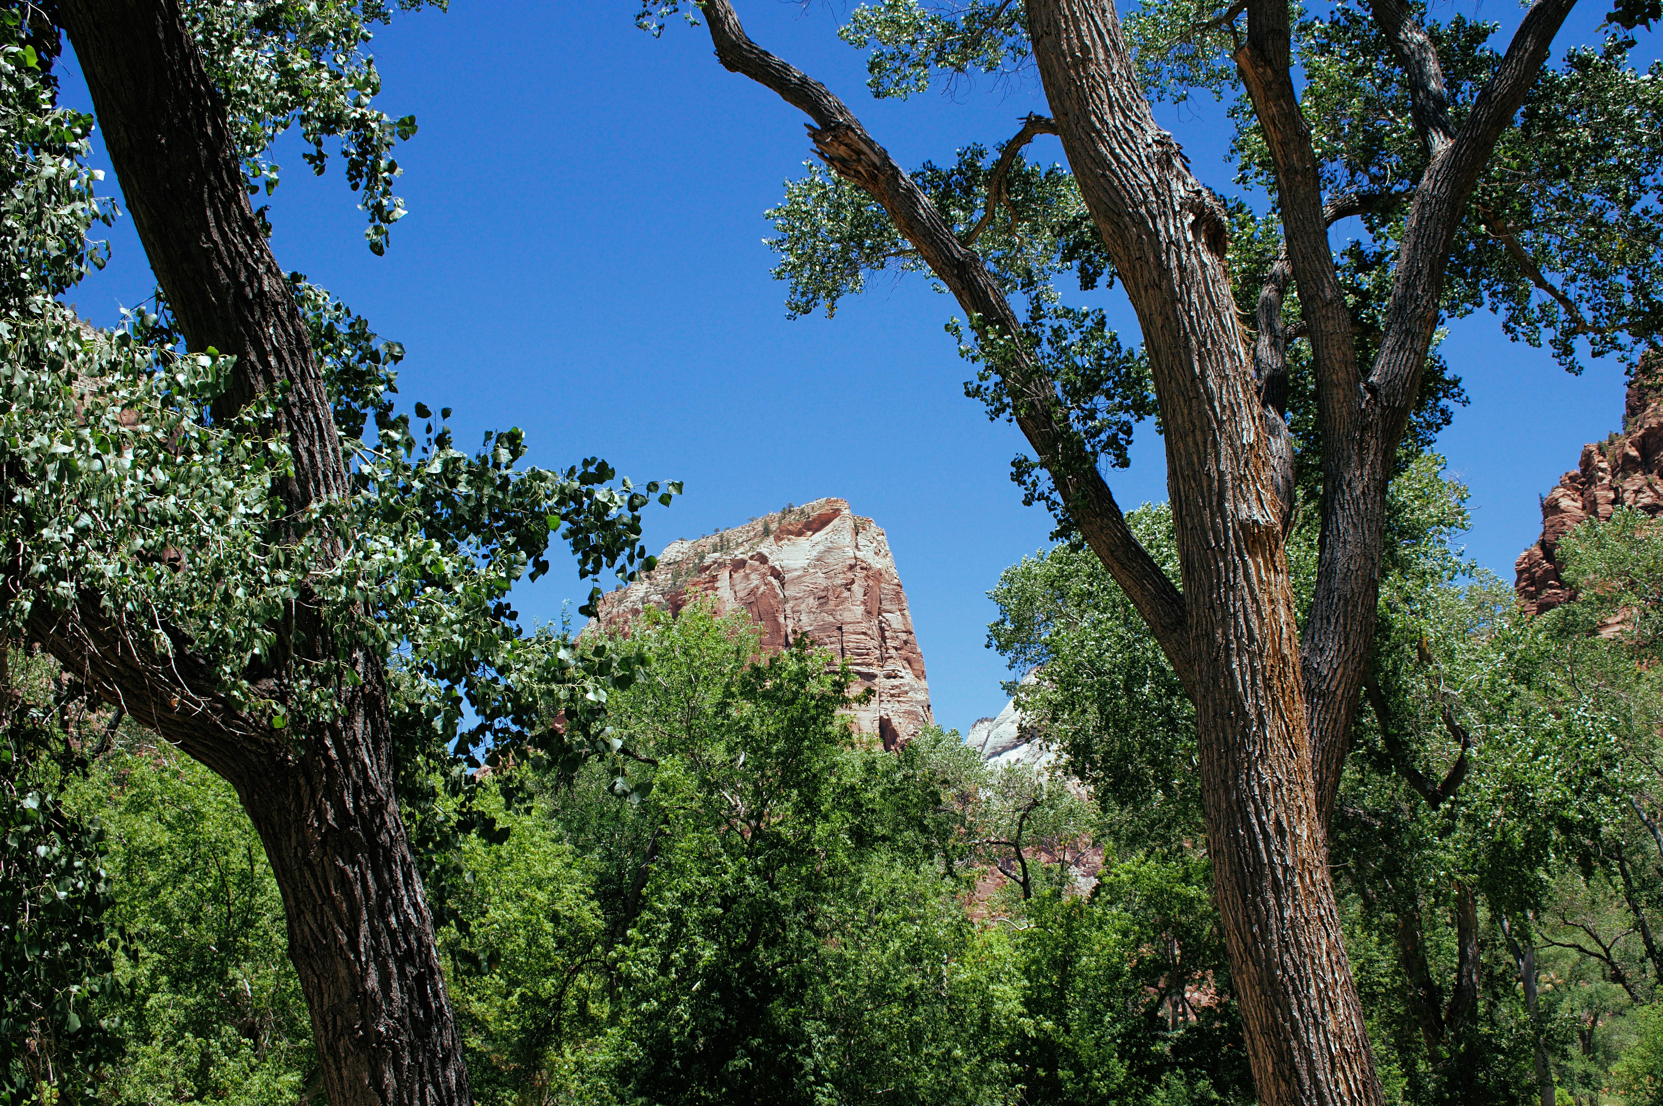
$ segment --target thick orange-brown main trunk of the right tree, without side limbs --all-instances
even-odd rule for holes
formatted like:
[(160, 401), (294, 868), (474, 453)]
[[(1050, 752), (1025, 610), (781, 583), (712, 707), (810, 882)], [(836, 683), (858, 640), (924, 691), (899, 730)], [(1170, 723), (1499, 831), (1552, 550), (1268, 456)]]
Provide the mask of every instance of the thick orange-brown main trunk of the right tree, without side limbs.
[(1161, 401), (1207, 845), (1259, 1101), (1379, 1103), (1317, 817), (1282, 504), (1222, 220), (1156, 126), (1111, 3), (1028, 0), (1028, 27)]

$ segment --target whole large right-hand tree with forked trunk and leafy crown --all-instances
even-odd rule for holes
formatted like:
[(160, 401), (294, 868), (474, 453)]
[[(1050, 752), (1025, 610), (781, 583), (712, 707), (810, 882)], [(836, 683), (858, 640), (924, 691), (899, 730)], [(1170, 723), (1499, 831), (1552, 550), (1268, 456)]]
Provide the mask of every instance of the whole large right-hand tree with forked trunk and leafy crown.
[[(876, 93), (1031, 65), (1051, 108), (996, 161), (970, 148), (915, 175), (841, 98), (752, 42), (730, 0), (683, 8), (725, 68), (808, 116), (830, 170), (773, 213), (793, 311), (835, 306), (890, 263), (928, 269), (968, 316), (966, 349), (983, 364), (968, 389), (1033, 447), (1016, 477), (1096, 552), (1177, 672), (1267, 1104), (1382, 1101), (1327, 825), (1369, 672), (1387, 484), (1405, 431), (1424, 437), (1453, 397), (1432, 353), (1438, 324), (1490, 304), (1565, 361), (1578, 338), (1631, 353), (1651, 333), (1653, 96), (1621, 38), (1543, 70), (1573, 2), (1535, 0), (1497, 52), (1495, 27), (1427, 23), (1400, 0), (1297, 25), (1285, 0), (1167, 0), (1139, 8), (1131, 35), (1111, 0), (881, 0), (845, 28), (875, 47)], [(649, 3), (639, 22), (657, 32), (677, 7)], [(1631, 28), (1656, 13), (1613, 15)], [(1221, 201), (1156, 123), (1151, 96), (1191, 88), (1234, 98), (1242, 183), (1266, 186), (1269, 218)], [(1023, 161), (1039, 133), (1061, 138), (1066, 171)], [(1330, 228), (1347, 218), (1364, 230), (1337, 248)], [(1058, 304), (1049, 281), (1063, 269), (1083, 286), (1119, 281), (1139, 351), (1101, 314)], [(1151, 407), (1142, 373), (1166, 442), (1177, 580), (1099, 471), (1124, 462)], [(1290, 427), (1300, 388), (1310, 417)], [(1284, 541), (1310, 496), (1320, 549), (1300, 624)]]

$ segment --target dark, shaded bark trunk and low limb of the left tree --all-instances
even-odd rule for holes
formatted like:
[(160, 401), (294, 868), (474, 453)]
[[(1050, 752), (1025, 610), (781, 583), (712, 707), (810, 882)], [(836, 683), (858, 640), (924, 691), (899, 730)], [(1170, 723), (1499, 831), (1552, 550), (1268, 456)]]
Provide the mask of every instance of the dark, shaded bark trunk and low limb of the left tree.
[[(190, 349), (236, 354), (215, 414), (284, 389), (271, 432), (293, 451), (294, 476), (278, 491), (288, 526), (299, 526), (308, 506), (344, 494), (341, 442), (304, 323), (249, 208), (225, 103), (176, 0), (62, 0), (57, 18)], [(173, 654), (156, 655), (91, 592), (68, 610), (37, 610), (35, 635), (67, 669), (236, 788), (283, 893), (329, 1101), (466, 1104), (432, 916), (392, 792), (379, 657), (353, 655), (358, 680), (339, 689), (339, 722), (291, 718), (274, 730), (215, 690), (186, 634), (168, 630)], [(284, 630), (298, 659), (333, 654), (306, 597)]]

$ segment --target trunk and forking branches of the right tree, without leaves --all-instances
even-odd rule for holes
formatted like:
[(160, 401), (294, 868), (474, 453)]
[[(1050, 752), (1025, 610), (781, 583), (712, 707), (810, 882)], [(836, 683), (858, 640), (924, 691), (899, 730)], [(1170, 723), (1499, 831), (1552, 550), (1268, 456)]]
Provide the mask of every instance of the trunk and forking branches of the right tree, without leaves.
[[(1274, 328), (1261, 319), (1251, 348), (1224, 264), (1222, 208), (1156, 126), (1111, 0), (1026, 0), (1056, 131), (1142, 329), (1182, 592), (1129, 536), (1094, 466), (1081, 466), (1054, 381), (1019, 353), (996, 368), (1071, 516), (1196, 704), (1219, 908), (1267, 1106), (1382, 1101), (1327, 871), (1327, 825), (1374, 637), (1387, 482), (1437, 324), (1448, 246), (1572, 3), (1537, 0), (1457, 131), (1442, 115), (1430, 37), (1407, 7), (1379, 0), (1377, 20), (1407, 70), (1432, 165), (1412, 193), (1350, 198), (1320, 193), (1290, 73), (1285, 0), (1242, 5), (1249, 27), (1237, 67), (1276, 161), (1285, 233), (1285, 263), (1272, 271), (1261, 314), (1279, 316), (1292, 279), (1317, 368), (1322, 537), (1300, 640), (1282, 546), (1290, 481), (1279, 318)], [(722, 65), (813, 120), (820, 156), (885, 208), (978, 333), (1018, 333), (980, 256), (846, 105), (752, 43), (730, 0), (700, 8)], [(1410, 213), (1387, 333), (1364, 374), (1327, 231), (1344, 215), (1402, 203)], [(1455, 1006), (1445, 1018), (1462, 1013)]]

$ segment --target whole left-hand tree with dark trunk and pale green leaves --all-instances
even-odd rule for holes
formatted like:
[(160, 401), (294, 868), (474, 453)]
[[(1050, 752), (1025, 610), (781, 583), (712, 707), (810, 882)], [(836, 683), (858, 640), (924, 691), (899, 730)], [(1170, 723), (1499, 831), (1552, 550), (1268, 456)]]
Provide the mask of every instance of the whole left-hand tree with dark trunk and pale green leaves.
[[(605, 690), (634, 662), (521, 632), (507, 589), (547, 570), (562, 527), (589, 575), (644, 562), (659, 487), (614, 486), (595, 459), (521, 469), (517, 431), (467, 456), (441, 417), (417, 441), (389, 397), (399, 349), (278, 268), (249, 195), (276, 186), (264, 150), (293, 123), (318, 171), (343, 140), (378, 253), (402, 213), (391, 148), (414, 121), (369, 106), (361, 53), (379, 0), (7, 15), (8, 637), (236, 790), (283, 893), (329, 1101), (466, 1103), (401, 788), (436, 765), (464, 780), (451, 738), (564, 762), (610, 748)], [(111, 215), (83, 163), (93, 120), (55, 106), (60, 27), (160, 284), (161, 306), (116, 333), (58, 301)], [(464, 732), (467, 709), (481, 722)], [(417, 818), (422, 853), (459, 828), (442, 815)]]

